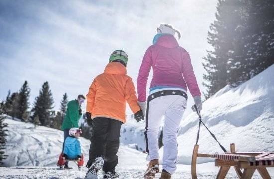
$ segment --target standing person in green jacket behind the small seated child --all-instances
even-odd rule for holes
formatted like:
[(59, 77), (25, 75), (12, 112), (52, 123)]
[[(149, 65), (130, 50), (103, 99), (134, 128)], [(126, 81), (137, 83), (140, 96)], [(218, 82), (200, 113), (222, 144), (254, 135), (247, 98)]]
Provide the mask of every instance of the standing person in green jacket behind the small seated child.
[[(67, 105), (67, 112), (62, 124), (62, 130), (64, 131), (64, 144), (66, 138), (69, 136), (69, 130), (73, 127), (79, 128), (78, 121), (82, 116), (81, 104), (85, 102), (85, 97), (83, 95), (78, 95), (77, 99), (69, 101)], [(68, 163), (65, 163), (64, 168), (69, 168)]]

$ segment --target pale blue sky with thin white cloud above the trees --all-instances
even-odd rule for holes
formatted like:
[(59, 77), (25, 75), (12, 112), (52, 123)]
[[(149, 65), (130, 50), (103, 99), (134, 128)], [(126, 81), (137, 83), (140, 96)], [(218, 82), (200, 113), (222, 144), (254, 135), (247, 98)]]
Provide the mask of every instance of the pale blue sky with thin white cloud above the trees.
[[(87, 94), (116, 49), (128, 54), (127, 74), (137, 87), (143, 55), (160, 23), (181, 32), (178, 43), (189, 52), (198, 85), (205, 92), (202, 57), (212, 48), (207, 33), (217, 1), (0, 0), (0, 100), (5, 100), (8, 90), (19, 91), (27, 80), (32, 107), (48, 81), (58, 110), (64, 93), (69, 100)], [(147, 91), (151, 79), (152, 73)], [(193, 104), (189, 97), (186, 115)]]

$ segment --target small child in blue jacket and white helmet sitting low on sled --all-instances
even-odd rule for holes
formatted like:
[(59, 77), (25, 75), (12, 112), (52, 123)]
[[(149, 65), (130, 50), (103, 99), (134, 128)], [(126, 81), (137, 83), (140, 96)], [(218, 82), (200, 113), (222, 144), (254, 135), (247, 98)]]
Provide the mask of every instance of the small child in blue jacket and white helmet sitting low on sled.
[[(82, 155), (81, 145), (78, 140), (81, 133), (82, 131), (79, 128), (74, 127), (69, 130), (69, 136), (65, 140), (64, 150), (59, 156), (57, 166), (65, 165), (67, 159), (77, 160), (78, 167), (83, 166), (84, 157)], [(66, 166), (67, 165), (65, 165), (64, 168), (67, 168)]]

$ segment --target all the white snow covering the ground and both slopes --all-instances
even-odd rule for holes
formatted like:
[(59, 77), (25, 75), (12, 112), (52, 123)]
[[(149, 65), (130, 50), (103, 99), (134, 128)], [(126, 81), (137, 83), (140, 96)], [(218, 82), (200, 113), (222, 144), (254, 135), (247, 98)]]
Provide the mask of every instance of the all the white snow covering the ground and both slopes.
[[(274, 65), (237, 88), (224, 87), (203, 103), (203, 122), (228, 150), (235, 143), (236, 151), (274, 151)], [(86, 168), (57, 170), (57, 159), (62, 149), (63, 132), (43, 126), (34, 127), (31, 123), (5, 119), (8, 123), (8, 136), (4, 166), (0, 168), (0, 178), (8, 179), (83, 179)], [(147, 161), (144, 140), (144, 121), (137, 123), (132, 115), (122, 125), (118, 151), (117, 172), (121, 179), (141, 179)], [(163, 124), (161, 124), (161, 127)], [(198, 116), (191, 113), (180, 125), (178, 131), (177, 171), (172, 179), (190, 179), (192, 151), (198, 131)], [(84, 159), (88, 159), (90, 141), (80, 137)], [(223, 153), (218, 143), (201, 126), (199, 153)], [(138, 148), (138, 150), (136, 150)], [(160, 149), (162, 156), (163, 149)], [(198, 160), (198, 178), (216, 178), (218, 168), (212, 159)], [(162, 161), (160, 161), (161, 163)], [(85, 162), (86, 163), (86, 162)], [(274, 169), (268, 169), (274, 178)], [(100, 175), (102, 177), (102, 175)], [(159, 174), (157, 174), (159, 177)], [(237, 179), (233, 169), (227, 176)], [(260, 179), (255, 173), (254, 179)]]

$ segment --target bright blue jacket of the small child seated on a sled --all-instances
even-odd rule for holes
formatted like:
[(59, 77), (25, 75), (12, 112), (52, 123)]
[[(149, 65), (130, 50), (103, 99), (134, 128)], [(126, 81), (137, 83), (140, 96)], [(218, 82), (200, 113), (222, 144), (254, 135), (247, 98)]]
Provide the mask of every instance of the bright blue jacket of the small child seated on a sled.
[(67, 154), (69, 159), (77, 159), (78, 156), (81, 156), (81, 145), (77, 138), (67, 137), (65, 140), (64, 154)]

